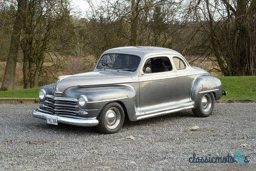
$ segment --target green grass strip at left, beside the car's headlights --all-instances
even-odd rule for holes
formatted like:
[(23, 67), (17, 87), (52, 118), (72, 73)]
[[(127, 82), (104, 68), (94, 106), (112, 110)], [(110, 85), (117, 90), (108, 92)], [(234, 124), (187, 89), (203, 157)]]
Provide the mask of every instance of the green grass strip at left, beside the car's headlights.
[(38, 98), (38, 92), (40, 88), (32, 88), (32, 89), (20, 89), (13, 91), (0, 91), (1, 97), (8, 98)]

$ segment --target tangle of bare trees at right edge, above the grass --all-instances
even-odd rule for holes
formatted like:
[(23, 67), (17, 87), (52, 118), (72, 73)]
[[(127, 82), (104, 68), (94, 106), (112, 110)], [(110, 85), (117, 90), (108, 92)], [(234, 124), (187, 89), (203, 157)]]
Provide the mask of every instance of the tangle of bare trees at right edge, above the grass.
[[(202, 0), (199, 9), (209, 47), (224, 75), (255, 74), (255, 4), (256, 1)], [(198, 18), (196, 22), (199, 23)], [(211, 54), (209, 53), (209, 54)]]

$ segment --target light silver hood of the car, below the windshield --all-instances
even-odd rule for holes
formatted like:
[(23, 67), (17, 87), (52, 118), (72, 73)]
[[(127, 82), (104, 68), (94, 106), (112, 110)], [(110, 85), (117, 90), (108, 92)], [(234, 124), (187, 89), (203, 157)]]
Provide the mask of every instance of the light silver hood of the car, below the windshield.
[(133, 82), (129, 73), (116, 71), (88, 72), (59, 77), (56, 83), (56, 91), (63, 92), (65, 89), (75, 86), (96, 86), (126, 82)]

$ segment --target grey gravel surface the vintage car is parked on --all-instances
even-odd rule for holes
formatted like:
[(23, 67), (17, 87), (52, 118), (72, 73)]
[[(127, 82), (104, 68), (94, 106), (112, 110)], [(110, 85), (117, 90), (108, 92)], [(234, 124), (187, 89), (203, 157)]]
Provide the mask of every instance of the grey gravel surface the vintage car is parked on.
[[(115, 134), (47, 125), (32, 116), (36, 108), (0, 105), (1, 170), (256, 169), (256, 104), (216, 104), (207, 118), (187, 110), (126, 122)], [(217, 157), (237, 150), (249, 163), (189, 163), (193, 152)]]

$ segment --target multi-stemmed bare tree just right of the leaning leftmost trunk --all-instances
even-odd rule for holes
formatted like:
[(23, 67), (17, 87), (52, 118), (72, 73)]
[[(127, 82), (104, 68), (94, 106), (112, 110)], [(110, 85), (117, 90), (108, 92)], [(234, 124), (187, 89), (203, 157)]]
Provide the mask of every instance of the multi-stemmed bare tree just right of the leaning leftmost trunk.
[[(69, 3), (67, 1), (30, 0), (22, 25), (21, 47), (23, 57), (24, 88), (37, 87), (38, 78), (43, 68), (46, 54), (58, 52), (58, 45), (51, 43), (59, 36), (64, 36), (61, 28), (69, 21)], [(65, 29), (65, 28), (64, 28)], [(62, 44), (65, 40), (62, 39)]]

